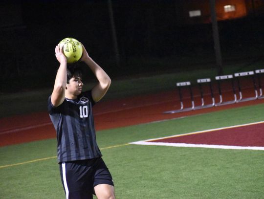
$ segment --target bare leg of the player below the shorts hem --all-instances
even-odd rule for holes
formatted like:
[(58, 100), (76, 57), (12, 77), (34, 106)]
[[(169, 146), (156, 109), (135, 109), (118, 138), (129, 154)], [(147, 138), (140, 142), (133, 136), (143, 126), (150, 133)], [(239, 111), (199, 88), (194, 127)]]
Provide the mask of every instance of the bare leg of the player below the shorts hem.
[(109, 184), (98, 184), (94, 187), (98, 199), (115, 199), (114, 186)]

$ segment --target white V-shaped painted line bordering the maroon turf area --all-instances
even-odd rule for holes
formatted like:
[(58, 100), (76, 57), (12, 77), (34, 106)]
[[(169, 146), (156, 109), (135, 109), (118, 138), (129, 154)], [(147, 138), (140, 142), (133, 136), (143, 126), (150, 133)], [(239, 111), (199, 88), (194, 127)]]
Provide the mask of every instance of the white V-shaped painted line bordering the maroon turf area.
[(218, 130), (225, 130), (225, 129), (231, 129), (231, 128), (237, 128), (237, 127), (244, 127), (244, 126), (262, 124), (262, 123), (264, 123), (264, 121), (248, 123), (248, 124), (242, 124), (242, 125), (236, 125), (236, 126), (230, 126), (230, 127), (222, 127), (222, 128), (210, 129), (210, 130), (198, 131), (198, 132), (192, 132), (192, 133), (184, 133), (184, 134), (160, 137), (160, 138), (155, 138), (155, 139), (141, 140), (141, 141), (131, 142), (130, 144), (172, 146), (172, 147), (198, 147), (198, 148), (212, 148), (212, 149), (240, 149), (240, 150), (241, 149), (247, 149), (247, 150), (262, 150), (262, 151), (264, 151), (264, 147), (254, 147), (254, 146), (243, 147), (243, 146), (229, 146), (229, 145), (151, 142), (151, 141), (160, 140), (160, 139), (173, 138), (173, 137), (192, 135), (192, 134), (198, 134), (198, 133), (214, 132), (214, 131), (218, 131)]

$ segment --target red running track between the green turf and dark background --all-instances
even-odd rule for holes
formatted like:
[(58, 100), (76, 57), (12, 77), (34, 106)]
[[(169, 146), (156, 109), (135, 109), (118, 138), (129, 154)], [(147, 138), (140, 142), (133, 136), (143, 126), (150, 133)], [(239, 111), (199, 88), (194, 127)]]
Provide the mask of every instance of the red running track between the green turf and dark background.
[[(194, 92), (194, 94), (195, 104), (198, 105), (200, 104), (199, 95), (196, 92)], [(230, 94), (227, 96), (230, 96)], [(216, 102), (218, 102), (219, 96), (216, 95), (215, 97)], [(207, 93), (205, 94), (205, 102), (210, 103), (209, 101), (210, 95)], [(184, 103), (186, 106), (189, 106), (190, 102), (188, 97), (184, 98)], [(114, 101), (102, 101), (94, 106), (93, 113), (95, 128), (98, 131), (260, 103), (264, 103), (264, 99), (195, 111), (164, 114), (164, 111), (179, 109), (177, 92), (173, 90), (152, 95), (134, 96)], [(51, 124), (46, 111), (0, 118), (0, 146), (55, 137), (56, 133), (54, 127)]]

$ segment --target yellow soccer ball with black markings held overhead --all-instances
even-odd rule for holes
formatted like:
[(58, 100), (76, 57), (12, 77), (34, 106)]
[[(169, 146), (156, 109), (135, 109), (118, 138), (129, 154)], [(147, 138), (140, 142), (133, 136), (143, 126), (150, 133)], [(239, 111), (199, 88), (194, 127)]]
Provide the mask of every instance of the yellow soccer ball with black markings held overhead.
[(63, 44), (63, 51), (68, 64), (77, 62), (82, 57), (83, 46), (78, 40), (67, 37), (60, 44)]

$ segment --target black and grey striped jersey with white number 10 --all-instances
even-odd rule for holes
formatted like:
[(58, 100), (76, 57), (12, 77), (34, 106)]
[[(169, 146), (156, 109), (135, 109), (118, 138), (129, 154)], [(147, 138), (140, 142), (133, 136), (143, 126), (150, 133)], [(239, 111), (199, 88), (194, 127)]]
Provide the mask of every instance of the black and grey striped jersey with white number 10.
[(77, 99), (65, 98), (54, 107), (48, 98), (48, 112), (57, 133), (58, 161), (91, 159), (102, 156), (96, 143), (91, 91), (82, 92)]

